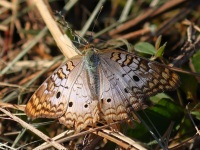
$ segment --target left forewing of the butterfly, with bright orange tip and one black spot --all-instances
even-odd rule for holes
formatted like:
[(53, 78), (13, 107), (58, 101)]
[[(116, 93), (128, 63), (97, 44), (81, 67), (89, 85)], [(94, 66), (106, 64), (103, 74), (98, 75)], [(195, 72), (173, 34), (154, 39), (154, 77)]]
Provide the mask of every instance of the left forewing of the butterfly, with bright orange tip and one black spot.
[(30, 98), (25, 108), (26, 114), (32, 119), (60, 117), (66, 111), (69, 86), (73, 84), (69, 74), (80, 65), (80, 59), (74, 59), (55, 70)]

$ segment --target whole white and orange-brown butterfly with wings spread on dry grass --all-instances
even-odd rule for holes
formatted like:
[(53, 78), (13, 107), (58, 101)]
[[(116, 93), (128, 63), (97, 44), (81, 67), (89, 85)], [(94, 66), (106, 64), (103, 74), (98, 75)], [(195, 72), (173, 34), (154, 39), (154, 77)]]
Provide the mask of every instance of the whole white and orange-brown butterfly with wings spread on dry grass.
[(88, 49), (69, 59), (35, 91), (26, 105), (30, 118), (58, 118), (81, 131), (98, 121), (128, 118), (146, 99), (175, 90), (179, 77), (168, 67), (120, 50)]

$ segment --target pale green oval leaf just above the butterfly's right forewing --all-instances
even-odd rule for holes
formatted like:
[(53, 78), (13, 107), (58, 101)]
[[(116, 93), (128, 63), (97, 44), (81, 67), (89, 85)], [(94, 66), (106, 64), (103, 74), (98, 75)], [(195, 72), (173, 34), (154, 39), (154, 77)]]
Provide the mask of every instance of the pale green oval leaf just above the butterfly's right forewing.
[(149, 55), (156, 54), (156, 49), (154, 48), (154, 46), (147, 42), (139, 42), (135, 44), (134, 49), (135, 51), (144, 53), (144, 54), (149, 54)]

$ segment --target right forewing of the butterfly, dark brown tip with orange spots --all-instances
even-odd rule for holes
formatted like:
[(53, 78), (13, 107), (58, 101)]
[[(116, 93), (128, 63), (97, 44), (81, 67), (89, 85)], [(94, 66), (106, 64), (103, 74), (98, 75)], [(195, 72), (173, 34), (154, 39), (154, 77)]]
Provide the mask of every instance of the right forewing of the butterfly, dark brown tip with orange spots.
[(111, 66), (110, 70), (116, 78), (128, 85), (123, 90), (132, 90), (131, 94), (138, 100), (165, 90), (174, 90), (180, 83), (178, 75), (166, 66), (131, 53), (113, 51), (103, 54), (102, 58)]

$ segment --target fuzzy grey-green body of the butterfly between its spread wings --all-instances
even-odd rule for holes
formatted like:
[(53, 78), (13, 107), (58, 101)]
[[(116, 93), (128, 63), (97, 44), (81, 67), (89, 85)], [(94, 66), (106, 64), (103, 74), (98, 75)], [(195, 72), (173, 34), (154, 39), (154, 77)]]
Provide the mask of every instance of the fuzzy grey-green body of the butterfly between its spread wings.
[(93, 96), (99, 95), (99, 56), (96, 54), (94, 48), (87, 50), (84, 56), (85, 68), (88, 73), (89, 87)]

